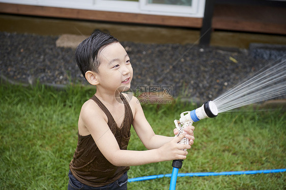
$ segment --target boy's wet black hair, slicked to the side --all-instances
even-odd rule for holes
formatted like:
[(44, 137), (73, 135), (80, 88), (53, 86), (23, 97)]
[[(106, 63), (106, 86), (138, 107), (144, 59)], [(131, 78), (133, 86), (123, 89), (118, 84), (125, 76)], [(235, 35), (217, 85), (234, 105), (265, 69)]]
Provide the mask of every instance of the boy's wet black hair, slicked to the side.
[(98, 73), (99, 50), (111, 43), (119, 42), (116, 37), (100, 30), (95, 30), (90, 37), (82, 41), (75, 50), (75, 61), (85, 78), (88, 70)]

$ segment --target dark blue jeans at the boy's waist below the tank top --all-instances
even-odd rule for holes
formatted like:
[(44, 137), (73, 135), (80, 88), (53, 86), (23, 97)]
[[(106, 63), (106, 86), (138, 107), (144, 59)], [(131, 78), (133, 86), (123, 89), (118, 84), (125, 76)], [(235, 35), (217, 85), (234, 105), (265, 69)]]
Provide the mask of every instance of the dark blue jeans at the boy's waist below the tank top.
[(92, 187), (89, 185), (85, 185), (79, 182), (69, 171), (69, 184), (68, 190), (111, 190), (111, 189), (118, 189), (118, 190), (127, 190), (127, 172), (125, 172), (117, 181), (110, 183), (108, 185), (104, 185), (101, 187)]

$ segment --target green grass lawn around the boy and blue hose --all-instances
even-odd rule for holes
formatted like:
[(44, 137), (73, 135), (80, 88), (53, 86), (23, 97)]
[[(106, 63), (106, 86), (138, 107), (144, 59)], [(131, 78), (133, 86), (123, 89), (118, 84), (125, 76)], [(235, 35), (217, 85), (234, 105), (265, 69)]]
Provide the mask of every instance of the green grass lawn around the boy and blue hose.
[[(81, 105), (94, 90), (0, 86), (0, 189), (67, 189)], [(157, 134), (173, 136), (174, 120), (196, 107), (142, 105)], [(180, 173), (286, 168), (286, 113), (220, 113), (194, 124), (195, 143)], [(144, 150), (132, 129), (128, 148)], [(171, 173), (171, 161), (131, 167), (129, 178)], [(285, 173), (178, 177), (176, 189), (285, 189)], [(170, 178), (128, 183), (128, 189), (168, 189)]]

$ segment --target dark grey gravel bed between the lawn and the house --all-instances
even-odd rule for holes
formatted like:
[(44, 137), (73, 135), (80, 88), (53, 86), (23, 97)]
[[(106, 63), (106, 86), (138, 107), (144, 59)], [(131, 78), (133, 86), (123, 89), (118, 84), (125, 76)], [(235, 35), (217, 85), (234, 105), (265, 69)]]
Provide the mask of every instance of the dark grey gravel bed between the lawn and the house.
[[(56, 47), (59, 36), (0, 32), (0, 37), (0, 69), (6, 78), (26, 83), (39, 80), (87, 85), (74, 60), (74, 49)], [(258, 54), (192, 44), (121, 43), (134, 70), (133, 91), (171, 87), (174, 97), (190, 97), (198, 102), (214, 99), (273, 61), (271, 56), (263, 56), (267, 50), (256, 51)]]

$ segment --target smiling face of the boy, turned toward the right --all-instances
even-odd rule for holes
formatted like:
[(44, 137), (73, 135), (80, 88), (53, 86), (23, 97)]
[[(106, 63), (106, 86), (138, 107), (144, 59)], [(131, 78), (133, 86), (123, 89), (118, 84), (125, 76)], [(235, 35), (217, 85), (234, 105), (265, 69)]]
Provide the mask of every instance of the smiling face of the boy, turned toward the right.
[(120, 43), (104, 47), (100, 53), (98, 67), (99, 85), (110, 91), (127, 91), (130, 89), (133, 69), (130, 58)]

